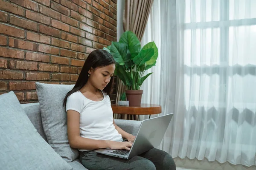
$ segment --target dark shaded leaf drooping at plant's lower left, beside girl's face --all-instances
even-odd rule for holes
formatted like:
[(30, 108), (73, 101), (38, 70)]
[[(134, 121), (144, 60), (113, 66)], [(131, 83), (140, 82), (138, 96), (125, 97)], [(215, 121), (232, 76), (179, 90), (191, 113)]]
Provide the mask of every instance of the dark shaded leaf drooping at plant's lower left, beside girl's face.
[(115, 75), (117, 75), (126, 86), (131, 86), (134, 84), (131, 76), (125, 71), (124, 65), (116, 64)]

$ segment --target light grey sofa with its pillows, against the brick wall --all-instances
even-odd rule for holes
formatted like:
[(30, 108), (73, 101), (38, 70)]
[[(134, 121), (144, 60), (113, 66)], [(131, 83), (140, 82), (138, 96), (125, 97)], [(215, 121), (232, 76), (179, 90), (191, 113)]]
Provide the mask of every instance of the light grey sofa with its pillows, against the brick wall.
[[(12, 91), (0, 95), (0, 169), (87, 170), (78, 150), (68, 144), (62, 101), (70, 88), (37, 84), (39, 102), (27, 104), (20, 104)], [(141, 121), (115, 119), (115, 123), (136, 135)]]

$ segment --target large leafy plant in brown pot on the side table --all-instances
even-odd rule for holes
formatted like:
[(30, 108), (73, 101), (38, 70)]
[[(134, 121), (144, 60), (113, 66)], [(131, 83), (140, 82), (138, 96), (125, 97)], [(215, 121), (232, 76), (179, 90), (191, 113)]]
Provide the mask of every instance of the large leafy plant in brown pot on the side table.
[(125, 31), (119, 42), (112, 42), (107, 48), (116, 61), (117, 75), (127, 89), (126, 96), (130, 106), (140, 106), (143, 91), (142, 83), (152, 73), (144, 76), (146, 70), (156, 65), (158, 49), (154, 42), (141, 48), (140, 41), (132, 31)]

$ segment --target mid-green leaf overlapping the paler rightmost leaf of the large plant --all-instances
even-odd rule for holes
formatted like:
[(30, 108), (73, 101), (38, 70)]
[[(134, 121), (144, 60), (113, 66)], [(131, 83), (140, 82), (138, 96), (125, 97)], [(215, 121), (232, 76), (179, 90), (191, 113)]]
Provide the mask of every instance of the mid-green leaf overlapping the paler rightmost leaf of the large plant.
[(144, 65), (145, 62), (151, 59), (151, 57), (154, 55), (154, 49), (148, 48), (145, 50), (141, 50), (140, 53), (134, 57), (133, 62), (137, 64), (138, 66)]

